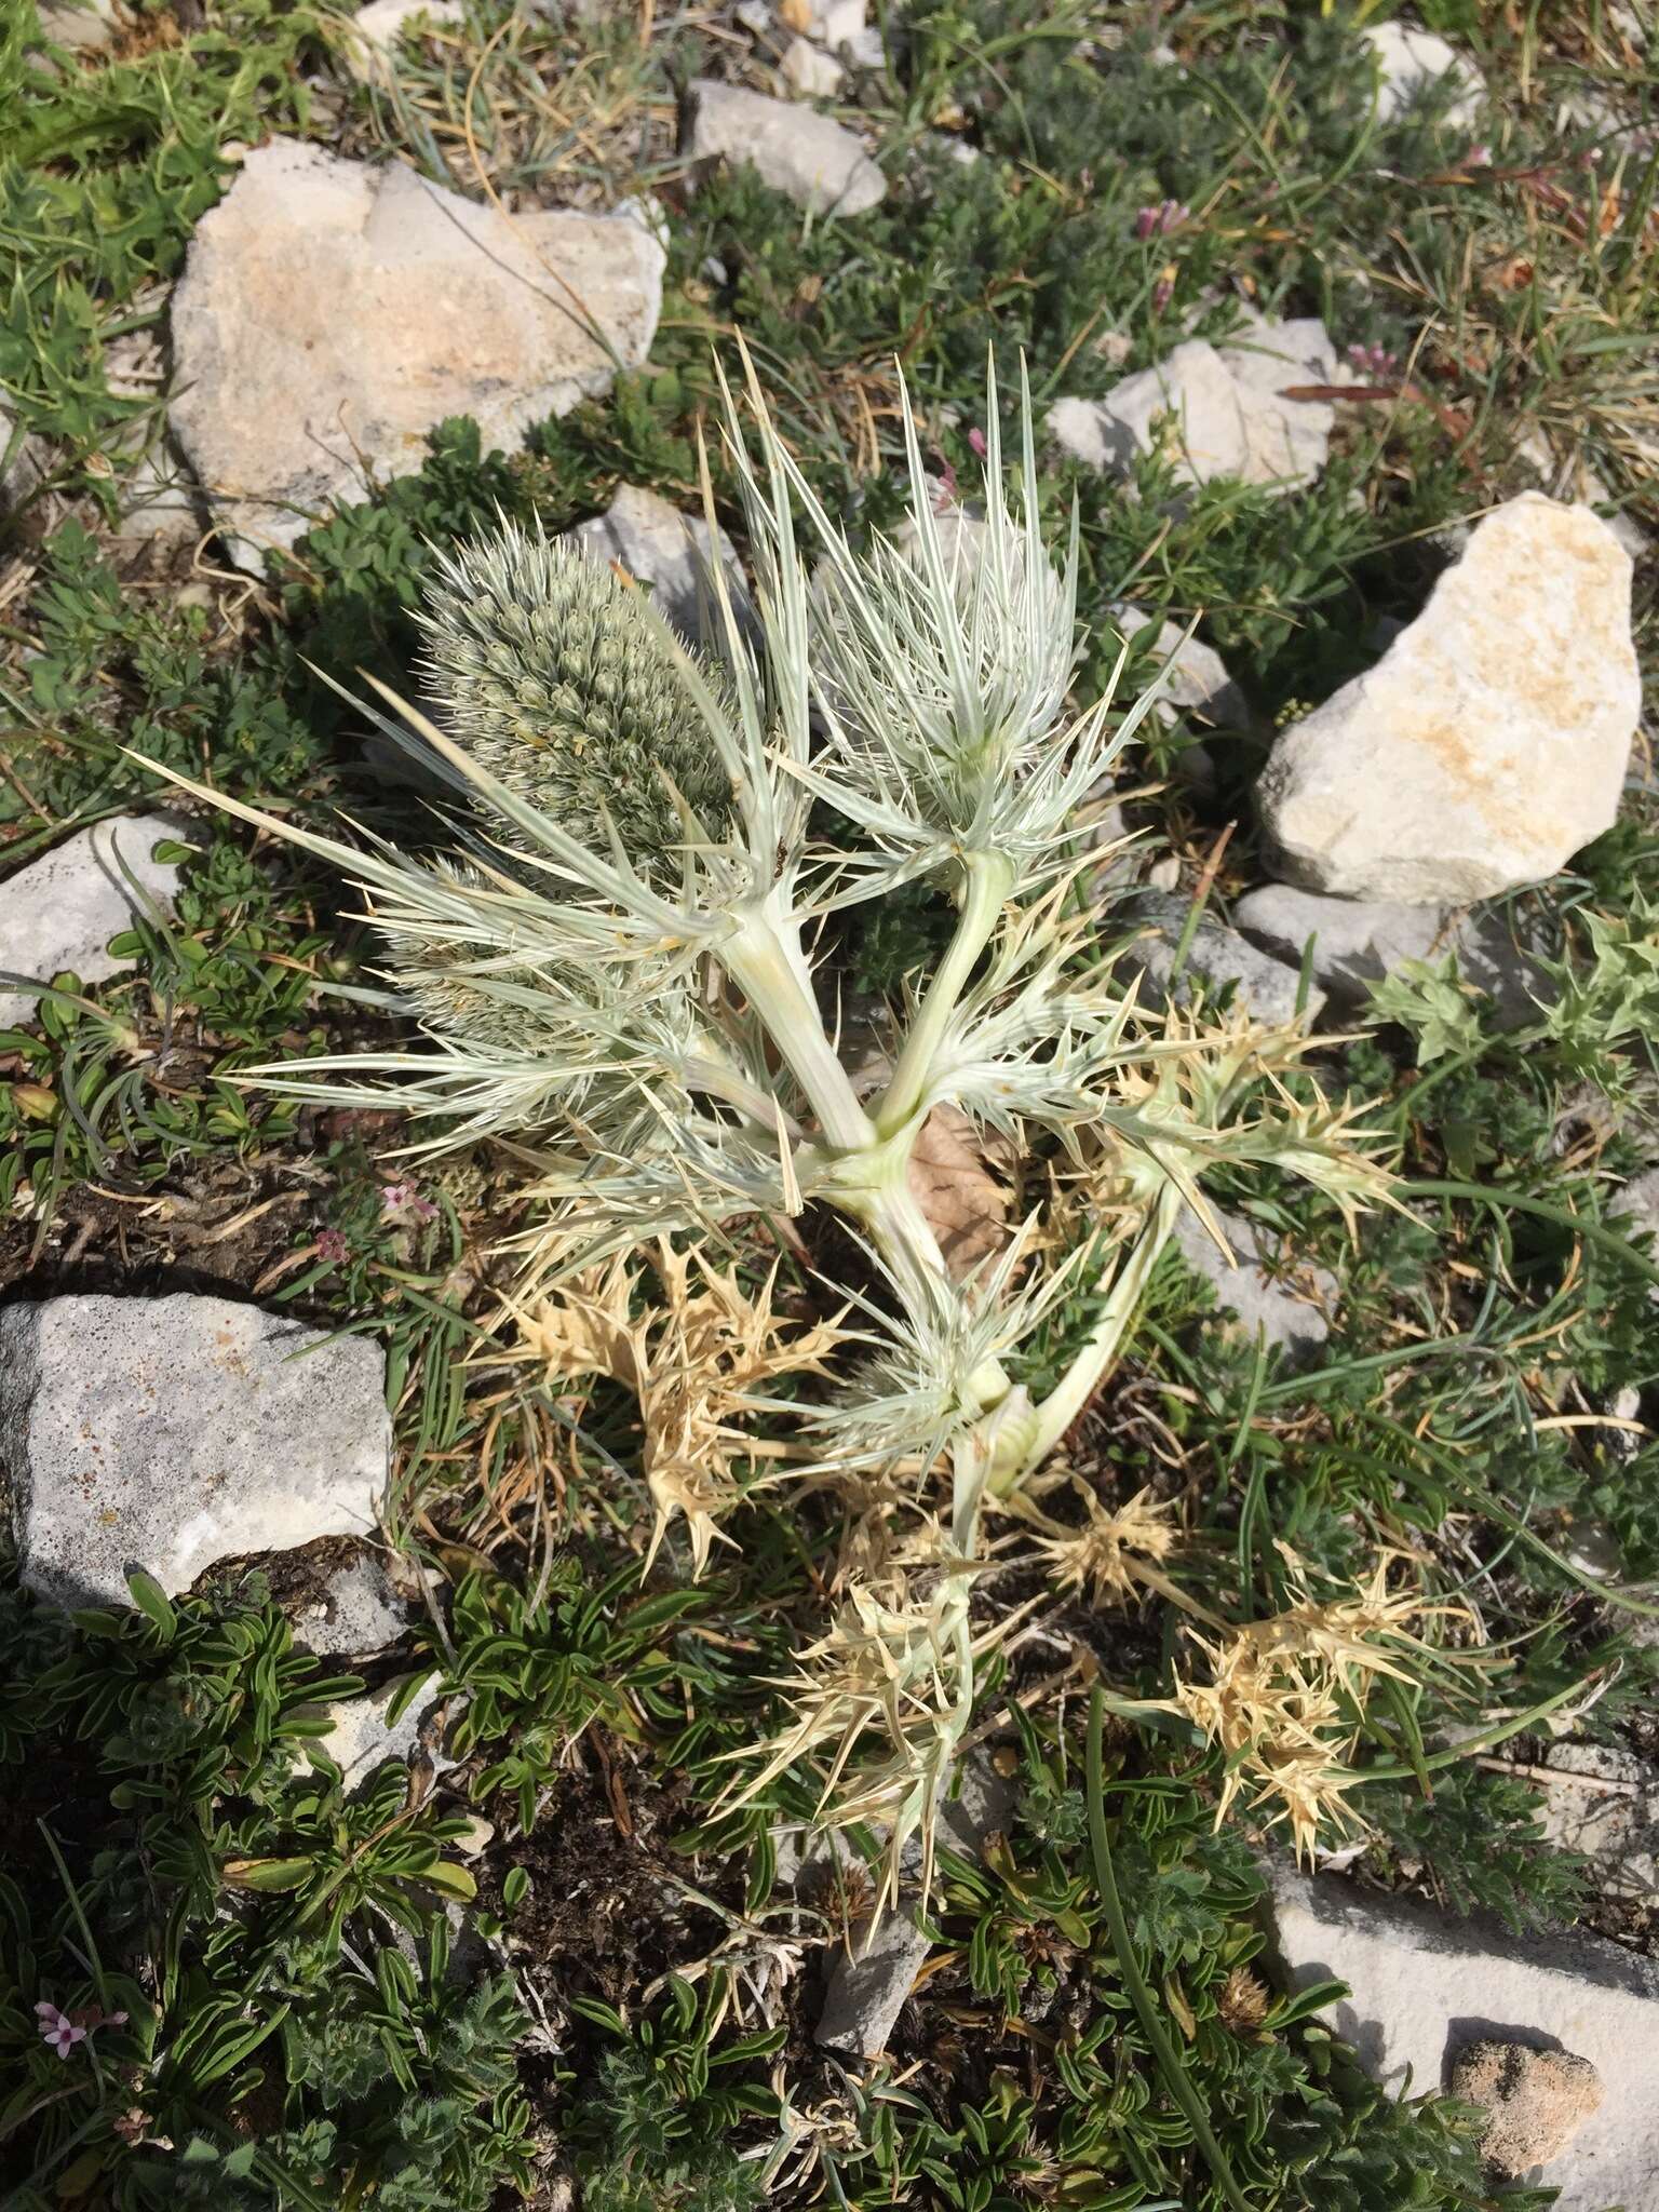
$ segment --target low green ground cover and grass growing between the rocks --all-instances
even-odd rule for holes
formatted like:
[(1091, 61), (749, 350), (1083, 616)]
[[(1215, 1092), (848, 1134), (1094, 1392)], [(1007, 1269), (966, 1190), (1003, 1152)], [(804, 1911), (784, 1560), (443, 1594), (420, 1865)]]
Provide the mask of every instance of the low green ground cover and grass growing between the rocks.
[[(1648, 27), (1429, 11), (1478, 58), (1471, 119), (1449, 84), (1389, 117), (1349, 11), (1031, 13), (883, 13), (836, 106), (887, 175), (858, 217), (679, 150), (692, 80), (776, 88), (812, 29), (790, 9), (761, 29), (757, 11), (478, 7), (363, 82), (321, 9), (144, 7), (84, 51), (22, 13), (0, 33), (7, 872), (73, 827), (177, 807), (164, 774), (429, 854), (427, 799), (334, 686), (414, 690), (438, 562), (502, 520), (560, 533), (622, 484), (695, 509), (739, 336), (803, 484), (863, 542), (907, 513), (900, 378), (949, 509), (980, 495), (989, 347), (1004, 400), (1024, 356), (1042, 425), (1181, 341), (1225, 343), (1252, 307), (1318, 314), (1343, 358), (1312, 482), (1181, 484), (1166, 436), (1115, 484), (1044, 438), (1035, 502), (1064, 542), (1077, 500), (1079, 708), (1106, 692), (1119, 602), (1199, 624), (1248, 703), (1245, 728), (1135, 730), (1115, 781), (1141, 845), (1115, 883), (1088, 878), (1095, 947), (1133, 936), (1124, 894), (1155, 867), (1225, 918), (1272, 874), (1250, 794), (1274, 730), (1371, 666), (1473, 518), (1544, 478), (1655, 522)], [(655, 192), (648, 365), (511, 456), (434, 427), (418, 469), (263, 573), (204, 529), (135, 533), (133, 473), (166, 462), (166, 288), (270, 133), (509, 210)], [(1013, 411), (1002, 429), (1018, 449)], [(752, 560), (730, 453), (708, 451)], [(1646, 549), (1632, 628), (1646, 666)], [(1155, 637), (1137, 633), (1117, 712)], [(338, 869), (188, 807), (188, 843), (164, 847), (173, 911), (137, 918), (131, 967), (93, 989), (60, 973), (0, 1035), (0, 1283), (9, 1301), (210, 1290), (385, 1345), (385, 1535), (411, 1606), (369, 1657), (303, 1626), (334, 1551), (230, 1562), (188, 1597), (137, 1579), (131, 1610), (73, 1617), (7, 1586), (13, 2201), (1493, 2201), (1473, 2115), (1391, 2101), (1318, 1993), (1283, 1993), (1254, 1847), (1290, 1798), (1241, 1787), (1203, 1694), (1250, 1624), (1303, 1608), (1336, 1650), (1321, 1847), (1378, 1891), (1652, 1949), (1652, 1898), (1548, 1843), (1540, 1790), (1557, 1730), (1659, 1752), (1655, 1279), (1613, 1208), (1655, 1159), (1646, 768), (1639, 737), (1619, 823), (1486, 909), (1553, 978), (1520, 1022), (1438, 958), (1394, 962), (1325, 1024), (1310, 1086), (1283, 1077), (1303, 1106), (1354, 1102), (1398, 1206), (1349, 1232), (1261, 1157), (1206, 1183), (1279, 1241), (1292, 1287), (1325, 1270), (1316, 1356), (1228, 1327), (1177, 1248), (1155, 1259), (1062, 1440), (1066, 1482), (998, 1526), (971, 1582), (987, 1655), (962, 1747), (1000, 1798), (973, 1849), (947, 1827), (931, 1898), (911, 1898), (933, 1944), (874, 2062), (818, 2033), (883, 1882), (880, 1823), (803, 1856), (834, 1745), (743, 1801), (732, 1759), (790, 1728), (779, 1686), (880, 1564), (887, 1502), (860, 1522), (845, 1486), (774, 1480), (799, 1433), (774, 1407), (743, 1422), (761, 1449), (726, 1455), (703, 1564), (697, 1515), (664, 1520), (648, 1482), (637, 1352), (633, 1369), (526, 1360), (504, 1318), (513, 1239), (542, 1219), (522, 1148), (398, 1157), (409, 1130), (380, 1104), (239, 1082), (411, 1031), (352, 995), (380, 951)], [(858, 849), (845, 816), (818, 830)], [(951, 929), (927, 874), (830, 916), (825, 1013), (902, 1000)], [(936, 1161), (945, 1232), (995, 1245), (1048, 1208), (1062, 1234), (1048, 1137)], [(845, 1325), (832, 1285), (880, 1312), (827, 1206), (732, 1223), (710, 1263), (787, 1334)], [(635, 1272), (613, 1321), (666, 1329), (672, 1265), (646, 1250)], [(1018, 1345), (1018, 1385), (1053, 1389), (1097, 1318), (1079, 1279)], [(776, 1396), (814, 1407), (832, 1383)], [(398, 1692), (447, 1712), (369, 1781), (325, 1734), (358, 1683), (392, 1688), (394, 1714)]]

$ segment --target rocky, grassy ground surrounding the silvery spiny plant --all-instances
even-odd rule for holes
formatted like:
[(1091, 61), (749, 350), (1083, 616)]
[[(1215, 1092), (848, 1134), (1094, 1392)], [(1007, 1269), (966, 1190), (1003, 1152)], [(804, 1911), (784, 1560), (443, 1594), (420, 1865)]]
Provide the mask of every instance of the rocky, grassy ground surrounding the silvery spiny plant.
[[(7, 2203), (1659, 2205), (1657, 53), (1480, 0), (0, 29)], [(1168, 1551), (993, 1555), (942, 1880), (874, 1938), (821, 1776), (726, 1787), (836, 1500), (657, 1548), (644, 1394), (504, 1329), (522, 1150), (250, 1075), (407, 1020), (327, 863), (168, 781), (431, 847), (338, 686), (416, 681), (500, 518), (752, 622), (739, 336), (856, 533), (902, 369), (969, 562), (1024, 361), (1075, 695), (1159, 679), (1095, 945), (1303, 1024), (1400, 1177), (1354, 1237), (1243, 1166), (1225, 1252), (1177, 1225), (1062, 1455)], [(869, 914), (849, 1035), (949, 929)], [(960, 1267), (1053, 1170), (949, 1110), (914, 1168)], [(825, 1325), (847, 1248), (734, 1281)], [(1431, 1648), (1310, 1865), (1179, 1710), (1110, 1723), (1102, 1865), (1086, 1692), (1179, 1708), (1170, 1584), (1243, 1632), (1378, 1562)]]

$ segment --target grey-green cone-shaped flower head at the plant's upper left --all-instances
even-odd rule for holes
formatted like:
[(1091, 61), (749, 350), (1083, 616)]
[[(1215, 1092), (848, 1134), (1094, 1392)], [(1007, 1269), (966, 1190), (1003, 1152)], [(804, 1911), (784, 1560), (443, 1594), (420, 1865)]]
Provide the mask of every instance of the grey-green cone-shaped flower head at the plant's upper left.
[(730, 779), (679, 659), (613, 568), (502, 522), (436, 573), (418, 615), (427, 692), (482, 768), (591, 845), (615, 825), (646, 876), (675, 874), (695, 834), (675, 794), (726, 836)]

